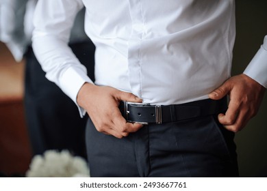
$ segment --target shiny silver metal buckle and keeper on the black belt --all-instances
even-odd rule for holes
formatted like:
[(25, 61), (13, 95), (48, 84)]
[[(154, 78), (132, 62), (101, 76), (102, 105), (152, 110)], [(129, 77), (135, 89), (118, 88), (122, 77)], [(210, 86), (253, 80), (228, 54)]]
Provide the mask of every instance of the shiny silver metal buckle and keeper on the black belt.
[[(128, 120), (128, 116), (129, 116), (129, 109), (128, 109), (128, 106), (129, 104), (131, 105), (142, 105), (142, 106), (151, 106), (151, 107), (155, 107), (155, 123), (157, 124), (162, 124), (162, 106), (161, 105), (151, 105), (151, 104), (148, 104), (148, 103), (136, 103), (136, 102), (126, 102), (126, 101), (123, 101), (124, 103), (124, 111), (125, 111), (125, 119), (126, 121), (129, 121)], [(142, 121), (129, 121), (129, 122), (135, 122), (135, 123), (141, 123), (141, 124), (144, 124), (144, 125), (148, 125), (149, 123), (148, 122), (142, 122)]]

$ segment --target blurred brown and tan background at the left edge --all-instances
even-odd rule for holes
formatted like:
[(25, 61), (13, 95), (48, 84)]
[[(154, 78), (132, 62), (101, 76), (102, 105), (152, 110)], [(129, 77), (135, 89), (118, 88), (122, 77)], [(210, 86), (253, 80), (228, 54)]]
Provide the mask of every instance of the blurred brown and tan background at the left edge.
[[(25, 63), (0, 43), (0, 173), (19, 176), (31, 160), (23, 107)], [(1, 174), (0, 174), (1, 175)]]

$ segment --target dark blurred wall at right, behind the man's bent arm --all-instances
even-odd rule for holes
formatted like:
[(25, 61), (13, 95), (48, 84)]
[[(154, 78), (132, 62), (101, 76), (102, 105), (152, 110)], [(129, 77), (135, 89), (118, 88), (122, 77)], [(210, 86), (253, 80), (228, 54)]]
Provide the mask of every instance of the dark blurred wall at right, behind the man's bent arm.
[[(236, 32), (233, 75), (244, 71), (267, 35), (266, 0), (236, 0)], [(241, 177), (267, 177), (266, 136), (267, 93), (257, 116), (236, 134)]]

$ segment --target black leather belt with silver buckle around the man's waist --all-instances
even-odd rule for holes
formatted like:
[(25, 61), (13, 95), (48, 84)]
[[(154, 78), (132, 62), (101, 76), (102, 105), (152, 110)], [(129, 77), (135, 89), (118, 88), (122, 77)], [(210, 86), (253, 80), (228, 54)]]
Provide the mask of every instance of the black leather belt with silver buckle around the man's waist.
[(221, 100), (199, 100), (168, 106), (120, 102), (119, 108), (123, 117), (129, 122), (161, 124), (225, 113), (227, 111), (227, 98), (225, 97)]

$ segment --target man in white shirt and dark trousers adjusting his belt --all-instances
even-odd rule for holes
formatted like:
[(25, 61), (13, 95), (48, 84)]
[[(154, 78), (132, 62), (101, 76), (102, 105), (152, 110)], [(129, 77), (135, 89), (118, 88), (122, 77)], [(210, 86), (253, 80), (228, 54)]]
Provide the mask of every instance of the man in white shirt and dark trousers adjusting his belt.
[[(83, 5), (97, 48), (94, 83), (67, 46)], [(90, 116), (92, 177), (238, 176), (233, 132), (262, 101), (267, 45), (230, 78), (233, 0), (51, 0), (37, 10), (36, 56)]]

